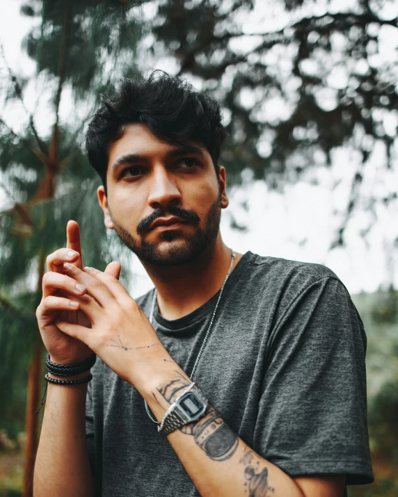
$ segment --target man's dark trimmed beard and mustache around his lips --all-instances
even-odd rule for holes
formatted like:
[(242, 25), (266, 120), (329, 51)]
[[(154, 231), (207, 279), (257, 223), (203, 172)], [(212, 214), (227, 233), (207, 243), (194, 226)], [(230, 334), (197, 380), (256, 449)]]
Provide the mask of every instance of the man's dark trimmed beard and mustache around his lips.
[[(129, 250), (134, 252), (143, 263), (154, 266), (180, 266), (193, 261), (205, 252), (207, 247), (212, 245), (216, 240), (218, 230), (220, 229), (221, 195), (207, 212), (204, 227), (198, 227), (193, 234), (182, 238), (182, 231), (180, 229), (164, 231), (159, 234), (159, 238), (161, 238), (160, 243), (149, 242), (139, 236), (154, 219), (165, 217), (166, 213), (176, 215), (181, 219), (200, 221), (200, 217), (195, 212), (170, 206), (167, 211), (154, 211), (148, 218), (138, 223), (136, 230), (138, 238), (134, 238), (127, 229), (123, 228), (112, 218), (116, 234), (120, 238), (120, 241)], [(165, 245), (164, 242), (168, 242), (167, 246), (160, 248), (159, 245)]]

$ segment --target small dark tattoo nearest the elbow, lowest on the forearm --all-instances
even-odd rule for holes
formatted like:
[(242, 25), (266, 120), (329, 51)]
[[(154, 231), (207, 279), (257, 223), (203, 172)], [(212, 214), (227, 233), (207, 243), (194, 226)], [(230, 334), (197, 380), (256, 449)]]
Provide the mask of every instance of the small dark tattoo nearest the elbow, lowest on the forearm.
[(240, 461), (244, 464), (245, 492), (249, 497), (272, 497), (274, 489), (268, 484), (268, 469), (260, 464), (260, 457), (247, 446)]

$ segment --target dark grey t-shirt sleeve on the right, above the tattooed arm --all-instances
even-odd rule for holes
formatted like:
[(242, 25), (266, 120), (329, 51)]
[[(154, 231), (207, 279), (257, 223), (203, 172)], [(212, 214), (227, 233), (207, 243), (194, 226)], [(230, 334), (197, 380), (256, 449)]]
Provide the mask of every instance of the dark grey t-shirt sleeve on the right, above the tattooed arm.
[(374, 480), (367, 432), (366, 335), (339, 279), (302, 291), (270, 337), (255, 447), (292, 478)]

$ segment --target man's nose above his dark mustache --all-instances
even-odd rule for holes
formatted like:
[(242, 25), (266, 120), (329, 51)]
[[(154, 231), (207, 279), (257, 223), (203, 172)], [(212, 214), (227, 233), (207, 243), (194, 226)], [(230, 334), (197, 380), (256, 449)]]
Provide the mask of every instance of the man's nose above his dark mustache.
[(170, 178), (168, 171), (161, 166), (154, 168), (150, 179), (148, 204), (152, 209), (167, 211), (168, 206), (177, 206), (180, 201), (180, 190)]

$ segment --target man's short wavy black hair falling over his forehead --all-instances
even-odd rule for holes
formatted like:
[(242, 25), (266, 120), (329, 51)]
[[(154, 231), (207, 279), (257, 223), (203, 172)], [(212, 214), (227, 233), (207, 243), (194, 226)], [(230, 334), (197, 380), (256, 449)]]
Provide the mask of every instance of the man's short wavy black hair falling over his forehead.
[(100, 174), (106, 191), (109, 147), (127, 124), (143, 124), (161, 141), (184, 145), (202, 142), (218, 177), (218, 156), (227, 131), (221, 124), (218, 102), (177, 76), (155, 70), (148, 79), (124, 78), (118, 92), (93, 116), (86, 131), (88, 161)]

